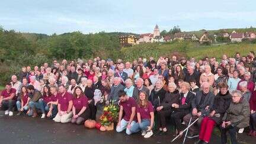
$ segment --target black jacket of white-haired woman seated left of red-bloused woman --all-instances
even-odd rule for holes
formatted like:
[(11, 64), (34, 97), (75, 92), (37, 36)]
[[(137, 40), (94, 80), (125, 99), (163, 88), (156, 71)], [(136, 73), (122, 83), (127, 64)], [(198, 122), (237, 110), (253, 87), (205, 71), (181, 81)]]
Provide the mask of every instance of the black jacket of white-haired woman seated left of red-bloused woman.
[(165, 98), (161, 103), (163, 110), (168, 110), (172, 108), (172, 104), (177, 104), (180, 98), (180, 93), (176, 89), (174, 92), (167, 92)]

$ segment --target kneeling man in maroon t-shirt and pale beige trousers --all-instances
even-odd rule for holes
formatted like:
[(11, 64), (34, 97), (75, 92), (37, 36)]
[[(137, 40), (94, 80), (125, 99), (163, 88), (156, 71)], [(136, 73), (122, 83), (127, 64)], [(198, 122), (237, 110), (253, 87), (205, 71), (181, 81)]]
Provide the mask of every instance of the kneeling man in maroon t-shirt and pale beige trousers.
[(58, 113), (53, 119), (57, 123), (68, 123), (71, 121), (73, 116), (72, 107), (73, 107), (73, 95), (66, 91), (64, 85), (60, 85), (59, 94), (57, 94), (57, 109)]

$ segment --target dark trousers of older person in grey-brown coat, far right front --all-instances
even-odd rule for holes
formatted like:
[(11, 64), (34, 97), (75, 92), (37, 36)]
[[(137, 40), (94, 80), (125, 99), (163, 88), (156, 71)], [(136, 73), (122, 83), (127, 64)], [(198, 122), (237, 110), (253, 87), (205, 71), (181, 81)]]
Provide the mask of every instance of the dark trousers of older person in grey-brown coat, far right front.
[(238, 143), (238, 141), (236, 139), (237, 131), (238, 131), (238, 129), (233, 126), (229, 126), (227, 128), (220, 128), (222, 144), (226, 144), (228, 142), (227, 141), (228, 137), (226, 135), (227, 132), (229, 132), (229, 136), (231, 137), (231, 143), (237, 144)]

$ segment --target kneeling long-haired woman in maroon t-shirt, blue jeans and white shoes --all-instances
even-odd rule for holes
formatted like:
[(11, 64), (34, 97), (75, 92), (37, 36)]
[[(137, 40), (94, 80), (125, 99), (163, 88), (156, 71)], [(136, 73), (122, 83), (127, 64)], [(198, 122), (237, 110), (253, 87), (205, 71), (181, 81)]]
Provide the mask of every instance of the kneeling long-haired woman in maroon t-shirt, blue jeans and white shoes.
[(130, 131), (136, 133), (142, 130), (142, 136), (145, 138), (151, 137), (153, 135), (152, 127), (154, 124), (153, 106), (151, 102), (148, 101), (148, 96), (144, 91), (139, 94), (136, 113), (137, 123), (131, 127)]

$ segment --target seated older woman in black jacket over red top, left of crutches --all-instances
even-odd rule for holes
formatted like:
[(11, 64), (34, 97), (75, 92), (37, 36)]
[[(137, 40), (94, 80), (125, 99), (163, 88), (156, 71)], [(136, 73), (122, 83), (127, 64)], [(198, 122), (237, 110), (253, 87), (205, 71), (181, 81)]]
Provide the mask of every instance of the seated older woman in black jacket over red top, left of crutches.
[(188, 82), (181, 83), (181, 95), (177, 103), (172, 104), (175, 108), (171, 115), (171, 120), (176, 128), (176, 135), (181, 133), (181, 120), (184, 116), (190, 113), (191, 103), (194, 99), (193, 92), (190, 91), (190, 84)]

